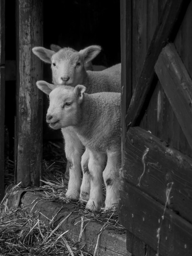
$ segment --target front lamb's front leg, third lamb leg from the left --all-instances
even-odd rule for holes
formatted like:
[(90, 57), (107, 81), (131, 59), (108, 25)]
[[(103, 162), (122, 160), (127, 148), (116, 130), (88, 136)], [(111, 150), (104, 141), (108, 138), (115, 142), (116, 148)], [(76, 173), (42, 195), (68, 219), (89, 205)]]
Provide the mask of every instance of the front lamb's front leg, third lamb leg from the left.
[(89, 201), (85, 209), (98, 211), (102, 206), (102, 173), (105, 168), (105, 154), (88, 150), (89, 152), (89, 175), (90, 175), (90, 194)]

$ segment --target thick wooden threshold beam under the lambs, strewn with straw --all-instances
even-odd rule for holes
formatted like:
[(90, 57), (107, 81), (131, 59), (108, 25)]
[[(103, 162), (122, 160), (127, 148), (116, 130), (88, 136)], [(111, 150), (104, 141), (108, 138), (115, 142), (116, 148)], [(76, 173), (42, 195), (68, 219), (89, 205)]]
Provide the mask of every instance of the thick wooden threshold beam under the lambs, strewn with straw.
[[(25, 195), (21, 198), (21, 202), (29, 211), (32, 209), (31, 211), (33, 213), (38, 212), (41, 219), (47, 220), (45, 217), (43, 217), (43, 215), (50, 220), (53, 218), (53, 216), (56, 216), (56, 218), (54, 218), (54, 227), (59, 224), (60, 220), (72, 212), (72, 215), (66, 220), (66, 222), (63, 222), (59, 229), (61, 231), (69, 230), (67, 233), (69, 239), (74, 240), (75, 243), (78, 243), (81, 226), (81, 215), (79, 214), (79, 211), (76, 210), (76, 204), (61, 205), (58, 202), (50, 202), (42, 199), (40, 196), (34, 194), (33, 192), (26, 192)], [(76, 224), (77, 222), (78, 224)], [(86, 224), (87, 226), (85, 227)], [(85, 230), (83, 231), (83, 236), (79, 245), (85, 245), (84, 248), (90, 254), (94, 254), (98, 234), (103, 225), (103, 223), (99, 223), (94, 220), (91, 220), (88, 223), (86, 218), (84, 218)], [(131, 256), (131, 254), (127, 252), (126, 248), (126, 234), (121, 234), (113, 227), (106, 227), (103, 229), (98, 243), (98, 251), (95, 255)]]

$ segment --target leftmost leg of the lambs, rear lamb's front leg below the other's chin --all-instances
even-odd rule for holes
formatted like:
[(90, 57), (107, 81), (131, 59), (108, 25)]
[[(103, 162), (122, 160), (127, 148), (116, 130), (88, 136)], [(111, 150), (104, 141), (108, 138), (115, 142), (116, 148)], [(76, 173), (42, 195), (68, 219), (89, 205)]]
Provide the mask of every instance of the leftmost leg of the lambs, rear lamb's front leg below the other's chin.
[(65, 155), (69, 162), (69, 183), (65, 195), (71, 200), (77, 200), (80, 195), (82, 175), (80, 162), (84, 146), (72, 130), (69, 128), (61, 130), (65, 139)]

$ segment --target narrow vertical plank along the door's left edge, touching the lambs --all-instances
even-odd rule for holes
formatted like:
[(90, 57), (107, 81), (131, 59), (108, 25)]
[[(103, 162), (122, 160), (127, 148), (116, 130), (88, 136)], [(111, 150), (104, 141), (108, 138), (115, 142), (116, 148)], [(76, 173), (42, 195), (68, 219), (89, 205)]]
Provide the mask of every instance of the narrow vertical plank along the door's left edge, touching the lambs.
[(121, 127), (122, 159), (126, 136), (125, 116), (132, 97), (132, 1), (122, 0), (121, 6)]

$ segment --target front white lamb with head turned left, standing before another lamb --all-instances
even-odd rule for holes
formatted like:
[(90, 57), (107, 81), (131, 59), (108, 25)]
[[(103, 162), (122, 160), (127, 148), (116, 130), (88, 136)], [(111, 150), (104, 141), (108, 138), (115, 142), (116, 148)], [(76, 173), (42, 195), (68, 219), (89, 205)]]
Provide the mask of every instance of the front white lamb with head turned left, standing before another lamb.
[(86, 94), (83, 85), (55, 88), (45, 81), (38, 81), (37, 86), (49, 94), (46, 116), (49, 126), (63, 131), (70, 127), (89, 154), (90, 194), (86, 209), (98, 211), (102, 205), (102, 173), (106, 186), (105, 207), (117, 204), (121, 168), (121, 94)]

